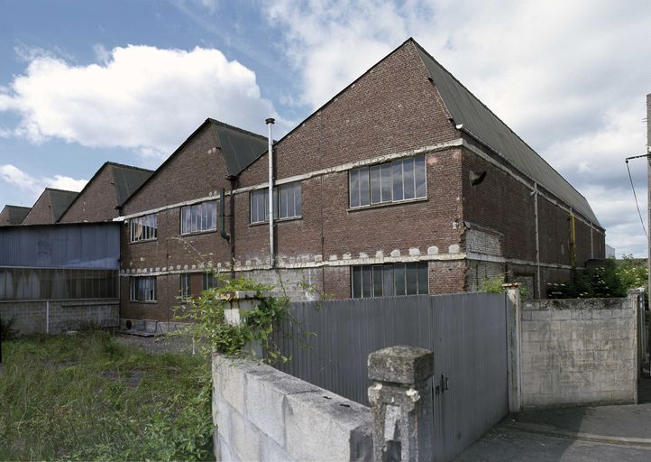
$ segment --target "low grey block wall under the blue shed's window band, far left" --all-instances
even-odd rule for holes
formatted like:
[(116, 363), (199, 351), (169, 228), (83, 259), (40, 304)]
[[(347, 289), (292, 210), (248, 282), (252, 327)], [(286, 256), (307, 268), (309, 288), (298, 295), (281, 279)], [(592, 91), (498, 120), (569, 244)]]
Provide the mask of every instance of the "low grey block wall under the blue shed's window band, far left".
[(14, 319), (13, 328), (21, 335), (60, 334), (85, 326), (118, 327), (120, 303), (106, 300), (3, 301), (0, 315), (4, 321)]

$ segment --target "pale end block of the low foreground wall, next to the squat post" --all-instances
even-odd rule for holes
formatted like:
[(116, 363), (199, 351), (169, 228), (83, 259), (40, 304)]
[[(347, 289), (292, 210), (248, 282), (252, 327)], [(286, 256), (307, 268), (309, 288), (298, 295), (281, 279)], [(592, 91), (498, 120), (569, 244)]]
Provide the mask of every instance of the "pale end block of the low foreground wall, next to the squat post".
[(297, 460), (370, 460), (371, 411), (320, 390), (286, 398), (287, 451)]

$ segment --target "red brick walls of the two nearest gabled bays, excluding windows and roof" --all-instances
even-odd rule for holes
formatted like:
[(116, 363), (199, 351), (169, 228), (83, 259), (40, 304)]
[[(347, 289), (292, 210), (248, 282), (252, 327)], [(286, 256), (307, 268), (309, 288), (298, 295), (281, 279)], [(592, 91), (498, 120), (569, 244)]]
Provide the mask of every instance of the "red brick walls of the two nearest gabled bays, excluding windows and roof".
[[(425, 199), (350, 207), (352, 168), (417, 154), (426, 156)], [(235, 271), (280, 280), (295, 298), (305, 295), (306, 283), (350, 297), (353, 265), (425, 261), (429, 293), (449, 293), (505, 272), (544, 286), (571, 263), (566, 208), (547, 191), (533, 194), (533, 182), (506, 171), (498, 156), (455, 128), (413, 42), (276, 143), (274, 159), (275, 180), (299, 180), (302, 187), (301, 217), (275, 226), (275, 269), (268, 266), (268, 224), (250, 223), (251, 188), (267, 182), (266, 154), (235, 180), (226, 231), (234, 217)], [(485, 179), (472, 185), (472, 173), (481, 171)], [(181, 207), (229, 190), (226, 175), (218, 140), (203, 125), (124, 204), (123, 318), (169, 320), (181, 273), (199, 274), (208, 260), (230, 269), (231, 243), (217, 231), (180, 236)], [(129, 243), (128, 221), (147, 213), (158, 216), (157, 239)], [(579, 265), (603, 257), (603, 230), (584, 221), (575, 219)], [(129, 301), (129, 278), (148, 275), (157, 277), (156, 302)], [(192, 281), (195, 291), (198, 276)]]

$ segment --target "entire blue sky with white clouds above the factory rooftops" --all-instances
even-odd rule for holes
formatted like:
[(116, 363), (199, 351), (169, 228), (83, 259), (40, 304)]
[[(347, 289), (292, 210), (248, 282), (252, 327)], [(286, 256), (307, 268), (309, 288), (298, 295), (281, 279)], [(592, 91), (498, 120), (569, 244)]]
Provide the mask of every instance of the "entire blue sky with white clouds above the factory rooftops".
[[(0, 206), (156, 168), (206, 117), (286, 133), (414, 37), (646, 256), (648, 0), (0, 0)], [(646, 223), (646, 162), (629, 163)]]

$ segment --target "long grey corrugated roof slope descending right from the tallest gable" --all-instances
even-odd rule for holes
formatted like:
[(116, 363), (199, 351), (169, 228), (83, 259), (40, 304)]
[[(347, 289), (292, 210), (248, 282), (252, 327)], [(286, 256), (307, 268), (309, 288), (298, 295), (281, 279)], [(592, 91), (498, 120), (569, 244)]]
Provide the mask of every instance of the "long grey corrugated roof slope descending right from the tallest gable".
[(455, 125), (463, 124), (495, 152), (500, 153), (519, 171), (545, 187), (558, 199), (581, 213), (595, 225), (601, 226), (588, 201), (555, 171), (540, 155), (515, 134), (491, 109), (472, 95), (459, 80), (432, 58), (414, 41), (434, 85), (441, 94)]

